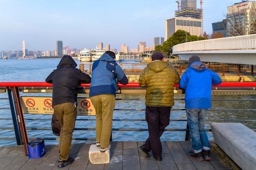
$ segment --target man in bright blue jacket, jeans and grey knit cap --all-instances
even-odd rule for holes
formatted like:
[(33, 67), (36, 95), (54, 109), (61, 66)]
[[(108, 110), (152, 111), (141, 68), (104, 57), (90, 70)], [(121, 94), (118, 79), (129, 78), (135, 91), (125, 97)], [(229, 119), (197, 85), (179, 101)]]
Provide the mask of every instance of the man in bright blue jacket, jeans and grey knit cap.
[(220, 84), (221, 78), (206, 68), (197, 55), (191, 56), (188, 64), (180, 87), (186, 89), (185, 108), (193, 149), (189, 157), (198, 161), (210, 160), (210, 144), (204, 124), (208, 108), (211, 108), (211, 86)]

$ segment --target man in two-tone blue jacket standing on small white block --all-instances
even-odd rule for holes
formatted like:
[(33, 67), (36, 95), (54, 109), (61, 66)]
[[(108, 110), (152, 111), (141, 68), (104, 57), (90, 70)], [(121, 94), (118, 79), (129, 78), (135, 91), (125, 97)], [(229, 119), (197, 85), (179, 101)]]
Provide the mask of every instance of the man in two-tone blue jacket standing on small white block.
[(115, 53), (106, 51), (92, 64), (90, 99), (96, 110), (96, 145), (100, 152), (110, 148), (112, 117), (115, 108), (117, 81), (128, 84), (121, 67), (115, 62)]

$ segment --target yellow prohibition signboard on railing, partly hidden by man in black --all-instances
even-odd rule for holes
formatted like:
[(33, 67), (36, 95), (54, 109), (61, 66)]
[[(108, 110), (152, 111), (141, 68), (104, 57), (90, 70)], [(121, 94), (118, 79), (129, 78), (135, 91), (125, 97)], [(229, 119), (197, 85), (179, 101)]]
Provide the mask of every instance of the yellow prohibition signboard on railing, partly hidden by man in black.
[[(52, 97), (20, 97), (23, 113), (53, 114)], [(89, 98), (77, 98), (77, 115), (96, 115)]]

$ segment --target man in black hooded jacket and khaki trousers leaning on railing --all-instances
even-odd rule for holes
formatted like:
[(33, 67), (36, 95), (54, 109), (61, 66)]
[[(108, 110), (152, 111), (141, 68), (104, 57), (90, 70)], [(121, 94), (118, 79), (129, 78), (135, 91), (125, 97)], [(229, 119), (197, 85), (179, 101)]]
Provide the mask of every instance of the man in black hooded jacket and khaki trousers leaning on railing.
[(58, 168), (74, 161), (74, 158), (69, 155), (76, 121), (76, 90), (79, 84), (91, 82), (91, 77), (77, 69), (76, 66), (76, 62), (70, 55), (64, 55), (57, 69), (45, 79), (47, 83), (52, 84), (52, 107), (61, 124)]

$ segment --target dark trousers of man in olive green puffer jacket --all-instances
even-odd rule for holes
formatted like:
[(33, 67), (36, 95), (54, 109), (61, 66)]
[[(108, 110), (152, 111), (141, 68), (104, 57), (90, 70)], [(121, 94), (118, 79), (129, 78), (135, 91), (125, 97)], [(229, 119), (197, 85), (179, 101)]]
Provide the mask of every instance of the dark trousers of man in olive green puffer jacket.
[(171, 107), (146, 106), (146, 121), (148, 122), (148, 139), (143, 145), (148, 151), (152, 150), (154, 157), (162, 156), (160, 137), (164, 128), (170, 124)]

